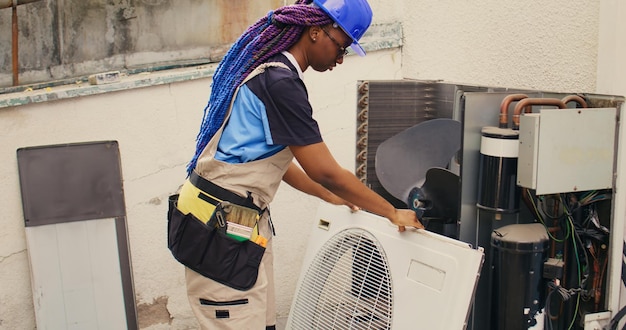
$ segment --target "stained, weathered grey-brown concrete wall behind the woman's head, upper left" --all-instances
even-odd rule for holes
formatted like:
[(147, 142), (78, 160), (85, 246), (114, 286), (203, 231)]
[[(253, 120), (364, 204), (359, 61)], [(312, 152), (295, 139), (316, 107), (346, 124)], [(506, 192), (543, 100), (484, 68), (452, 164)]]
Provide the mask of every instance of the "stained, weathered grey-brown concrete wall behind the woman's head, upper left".
[[(44, 0), (17, 7), (19, 81), (210, 61), (283, 0)], [(11, 9), (0, 10), (0, 87), (12, 85)], [(221, 50), (221, 51), (220, 51)], [(213, 58), (215, 60), (215, 58)]]

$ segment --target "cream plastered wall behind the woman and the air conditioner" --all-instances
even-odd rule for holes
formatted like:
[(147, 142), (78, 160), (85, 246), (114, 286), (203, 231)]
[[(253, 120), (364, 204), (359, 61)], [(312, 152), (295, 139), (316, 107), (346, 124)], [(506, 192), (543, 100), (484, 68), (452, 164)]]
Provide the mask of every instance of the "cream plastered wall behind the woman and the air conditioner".
[[(129, 3), (140, 2), (159, 1)], [(559, 0), (522, 7), (511, 1), (371, 1), (376, 23), (402, 23), (402, 52), (383, 46), (381, 34), (367, 57), (349, 56), (332, 73), (305, 73), (324, 139), (340, 164), (353, 169), (356, 80), (360, 79), (442, 79), (624, 95), (626, 72), (620, 59), (626, 53), (626, 30), (617, 21), (626, 12), (619, 2)], [(1, 16), (0, 24), (6, 22), (6, 16)], [(5, 55), (3, 49), (0, 56)], [(2, 69), (7, 65), (4, 58)], [(193, 70), (208, 69), (189, 70), (193, 76)], [(166, 247), (164, 215), (166, 198), (181, 184), (193, 152), (210, 77), (161, 79), (151, 87), (137, 88), (141, 84), (136, 81), (154, 75), (125, 77), (128, 90), (81, 97), (66, 92), (57, 95), (67, 98), (54, 101), (34, 103), (37, 98), (32, 98), (24, 105), (0, 107), (0, 329), (35, 328), (15, 150), (108, 139), (120, 144), (140, 326), (195, 326), (182, 266)], [(55, 91), (63, 88), (50, 92)], [(54, 95), (50, 92), (40, 91), (39, 99)], [(14, 96), (28, 99), (32, 93), (38, 91)], [(620, 144), (626, 145), (623, 136)], [(272, 205), (281, 317), (289, 312), (318, 204), (315, 198), (282, 185)]]

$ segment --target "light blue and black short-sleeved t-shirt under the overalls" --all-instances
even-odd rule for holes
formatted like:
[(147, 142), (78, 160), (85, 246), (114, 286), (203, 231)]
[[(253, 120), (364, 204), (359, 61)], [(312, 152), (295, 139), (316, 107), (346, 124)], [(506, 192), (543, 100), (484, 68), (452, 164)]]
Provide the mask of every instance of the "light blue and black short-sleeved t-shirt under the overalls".
[(287, 146), (322, 141), (304, 82), (283, 54), (268, 62), (282, 62), (290, 70), (269, 67), (241, 86), (217, 147), (215, 158), (245, 163), (272, 156)]

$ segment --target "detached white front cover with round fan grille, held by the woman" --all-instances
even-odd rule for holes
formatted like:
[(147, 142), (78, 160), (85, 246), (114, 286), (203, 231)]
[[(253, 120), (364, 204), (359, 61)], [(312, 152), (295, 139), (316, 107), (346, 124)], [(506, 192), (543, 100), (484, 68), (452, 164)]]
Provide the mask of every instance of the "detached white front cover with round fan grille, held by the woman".
[(482, 248), (322, 204), (287, 329), (465, 329)]

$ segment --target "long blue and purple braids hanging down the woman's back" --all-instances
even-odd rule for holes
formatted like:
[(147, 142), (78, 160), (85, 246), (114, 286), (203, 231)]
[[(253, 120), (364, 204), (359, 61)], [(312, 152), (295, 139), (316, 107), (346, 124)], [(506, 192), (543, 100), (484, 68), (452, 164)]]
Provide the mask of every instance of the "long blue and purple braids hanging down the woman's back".
[(222, 126), (235, 90), (257, 66), (268, 58), (289, 49), (307, 26), (332, 23), (311, 0), (270, 11), (251, 25), (228, 50), (213, 75), (209, 102), (196, 141), (196, 153), (187, 165), (187, 174), (195, 168), (198, 157)]

